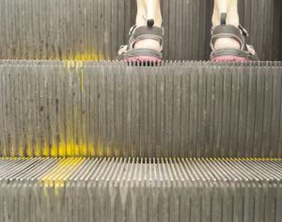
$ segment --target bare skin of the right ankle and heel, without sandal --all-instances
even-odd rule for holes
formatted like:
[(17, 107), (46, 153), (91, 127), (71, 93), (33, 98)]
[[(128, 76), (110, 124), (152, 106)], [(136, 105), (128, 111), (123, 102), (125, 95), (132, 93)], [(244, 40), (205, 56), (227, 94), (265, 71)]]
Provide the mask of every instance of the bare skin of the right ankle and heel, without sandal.
[[(220, 14), (227, 13), (226, 22), (229, 25), (238, 26), (238, 0), (214, 0), (212, 25), (216, 26), (220, 24)], [(240, 49), (240, 44), (231, 38), (219, 38), (214, 44), (215, 49), (223, 48), (235, 48)]]

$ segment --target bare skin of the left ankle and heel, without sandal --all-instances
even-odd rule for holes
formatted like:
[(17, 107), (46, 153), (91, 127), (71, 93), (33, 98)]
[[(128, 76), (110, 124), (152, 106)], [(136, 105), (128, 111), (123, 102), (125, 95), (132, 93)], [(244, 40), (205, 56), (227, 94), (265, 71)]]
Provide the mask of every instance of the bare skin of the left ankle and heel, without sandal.
[[(161, 27), (162, 17), (160, 11), (160, 0), (137, 0), (137, 27), (147, 25), (148, 19), (154, 19), (154, 25)], [(145, 39), (138, 41), (135, 48), (146, 48), (160, 51), (159, 41)]]

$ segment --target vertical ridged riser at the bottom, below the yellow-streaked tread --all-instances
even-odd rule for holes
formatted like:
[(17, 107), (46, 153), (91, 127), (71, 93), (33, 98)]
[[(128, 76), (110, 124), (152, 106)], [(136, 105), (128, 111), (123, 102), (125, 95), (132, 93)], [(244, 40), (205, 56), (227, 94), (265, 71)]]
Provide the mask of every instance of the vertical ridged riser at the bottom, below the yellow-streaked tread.
[(74, 189), (11, 184), (1, 188), (1, 207), (7, 208), (0, 221), (279, 221), (275, 218), (282, 218), (277, 209), (282, 206), (281, 188), (261, 186)]

